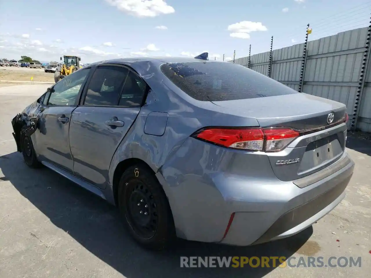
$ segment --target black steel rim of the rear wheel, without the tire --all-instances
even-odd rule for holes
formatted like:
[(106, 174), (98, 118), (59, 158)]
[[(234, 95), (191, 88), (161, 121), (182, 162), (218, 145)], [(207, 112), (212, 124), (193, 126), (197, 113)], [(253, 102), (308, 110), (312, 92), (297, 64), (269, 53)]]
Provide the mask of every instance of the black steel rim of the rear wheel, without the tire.
[(157, 206), (151, 191), (140, 180), (127, 183), (128, 222), (142, 238), (152, 238), (158, 228)]

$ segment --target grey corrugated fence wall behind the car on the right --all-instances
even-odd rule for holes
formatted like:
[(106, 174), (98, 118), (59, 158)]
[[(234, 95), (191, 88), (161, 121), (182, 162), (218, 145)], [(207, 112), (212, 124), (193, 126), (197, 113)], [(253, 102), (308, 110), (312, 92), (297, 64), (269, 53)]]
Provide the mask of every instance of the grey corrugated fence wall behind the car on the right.
[[(347, 105), (351, 122), (366, 50), (368, 27), (309, 41), (303, 92), (336, 100)], [(310, 39), (310, 35), (309, 35)], [(274, 42), (273, 42), (274, 46)], [(299, 89), (304, 43), (273, 50), (272, 78)], [(252, 55), (250, 68), (268, 75), (269, 52)], [(248, 57), (235, 60), (247, 66)], [(371, 63), (358, 106), (357, 129), (371, 132)], [(349, 125), (348, 125), (349, 127)]]

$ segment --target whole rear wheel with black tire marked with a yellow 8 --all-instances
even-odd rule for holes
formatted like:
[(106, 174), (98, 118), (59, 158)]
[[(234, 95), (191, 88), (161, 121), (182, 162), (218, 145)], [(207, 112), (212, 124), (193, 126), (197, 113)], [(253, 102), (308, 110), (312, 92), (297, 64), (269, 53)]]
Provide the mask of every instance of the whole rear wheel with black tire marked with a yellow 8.
[(146, 165), (131, 166), (122, 174), (118, 203), (126, 228), (141, 246), (161, 250), (174, 241), (170, 205), (162, 186)]

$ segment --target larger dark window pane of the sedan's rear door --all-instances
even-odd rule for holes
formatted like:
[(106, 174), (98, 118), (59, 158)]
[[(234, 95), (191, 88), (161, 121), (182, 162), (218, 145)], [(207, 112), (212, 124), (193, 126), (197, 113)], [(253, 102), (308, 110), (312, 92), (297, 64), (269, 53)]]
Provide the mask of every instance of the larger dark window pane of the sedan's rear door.
[(117, 106), (128, 73), (126, 67), (98, 67), (87, 87), (84, 105)]

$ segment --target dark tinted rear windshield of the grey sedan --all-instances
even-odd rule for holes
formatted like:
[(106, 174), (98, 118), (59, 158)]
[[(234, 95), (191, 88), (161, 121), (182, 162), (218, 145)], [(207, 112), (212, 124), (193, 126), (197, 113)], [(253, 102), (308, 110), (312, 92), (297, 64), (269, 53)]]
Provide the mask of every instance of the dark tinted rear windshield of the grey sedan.
[(168, 63), (161, 66), (161, 71), (183, 92), (201, 101), (298, 93), (274, 79), (232, 63)]

